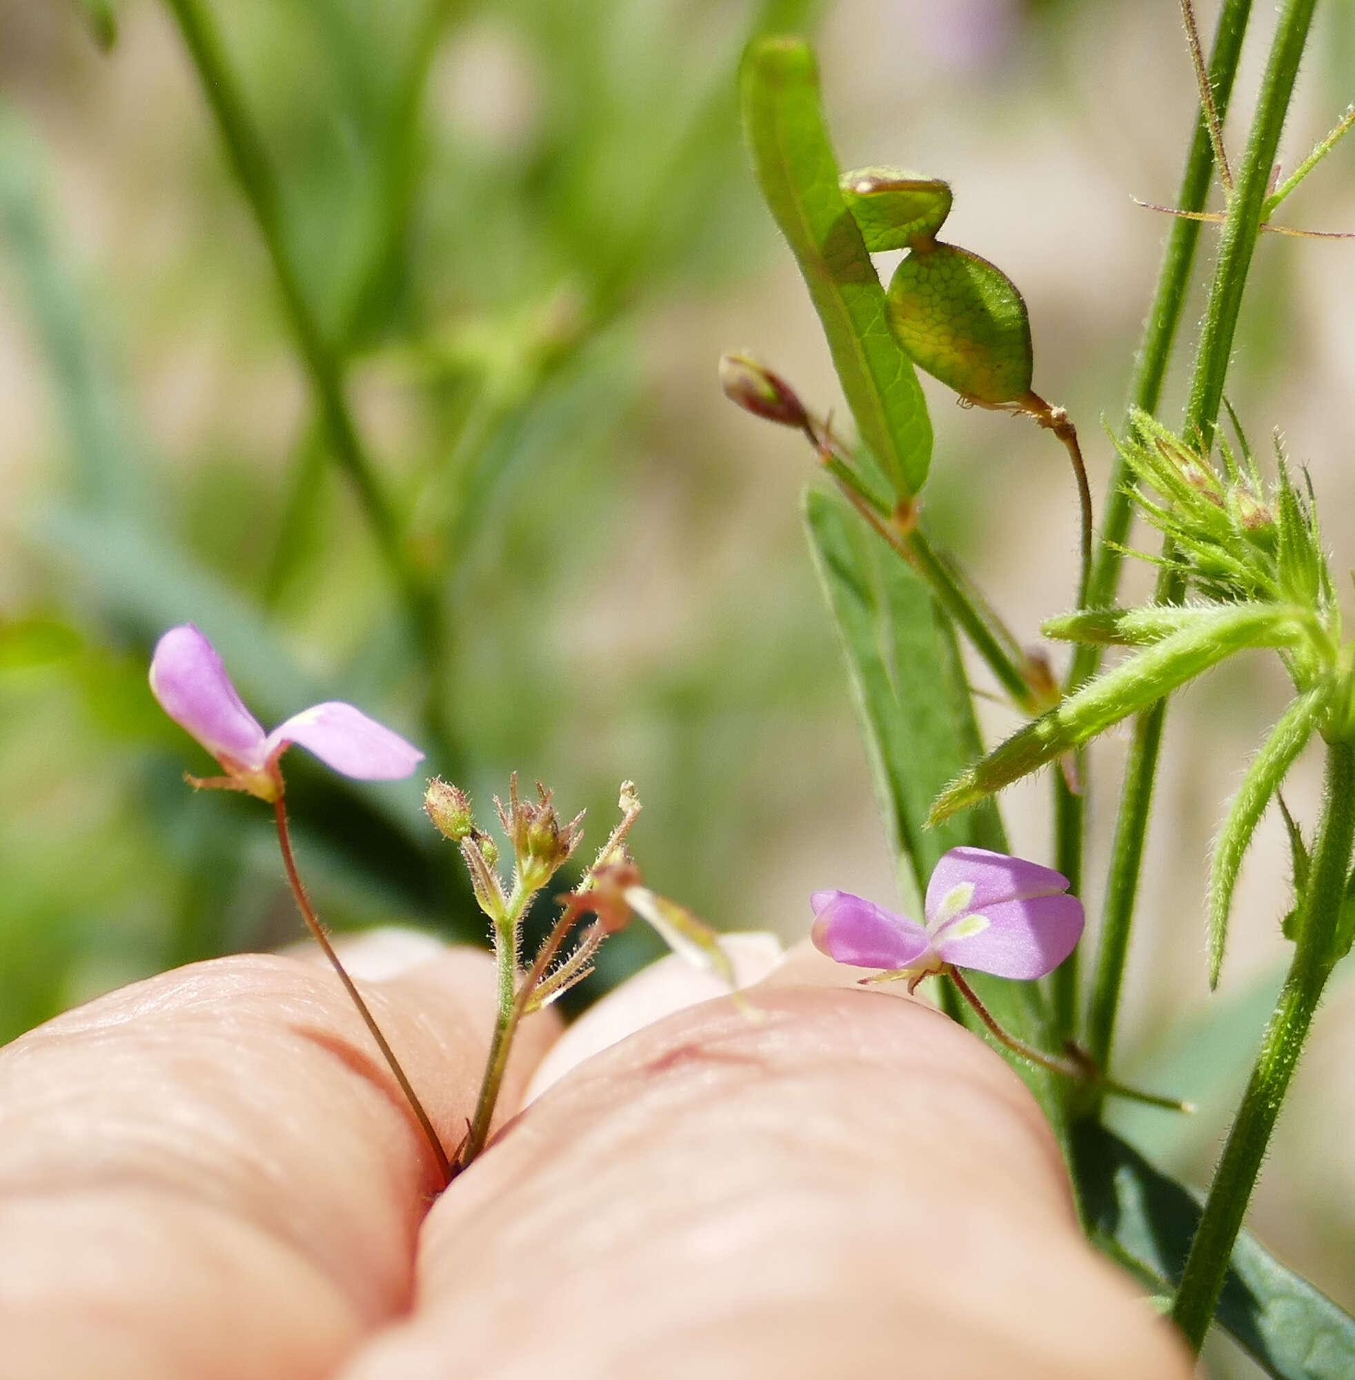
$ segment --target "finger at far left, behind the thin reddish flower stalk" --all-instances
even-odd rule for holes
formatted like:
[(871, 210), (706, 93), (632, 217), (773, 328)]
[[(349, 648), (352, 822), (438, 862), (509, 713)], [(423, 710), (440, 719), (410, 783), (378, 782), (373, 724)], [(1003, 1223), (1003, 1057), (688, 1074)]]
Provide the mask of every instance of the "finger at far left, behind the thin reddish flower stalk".
[[(454, 1148), (490, 960), (363, 985)], [(506, 1108), (552, 1032), (523, 1029)], [(0, 1376), (331, 1374), (407, 1305), (436, 1187), (333, 973), (255, 955), (115, 992), (0, 1052)]]

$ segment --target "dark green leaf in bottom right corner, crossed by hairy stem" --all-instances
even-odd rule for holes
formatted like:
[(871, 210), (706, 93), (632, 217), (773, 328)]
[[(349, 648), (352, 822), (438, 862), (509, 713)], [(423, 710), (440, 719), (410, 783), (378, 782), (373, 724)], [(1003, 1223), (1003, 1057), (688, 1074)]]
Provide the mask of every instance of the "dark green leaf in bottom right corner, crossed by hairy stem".
[[(1155, 1293), (1174, 1292), (1199, 1224), (1199, 1195), (1091, 1122), (1074, 1132), (1074, 1166), (1091, 1239)], [(1355, 1319), (1239, 1234), (1216, 1321), (1276, 1380), (1349, 1380)]]

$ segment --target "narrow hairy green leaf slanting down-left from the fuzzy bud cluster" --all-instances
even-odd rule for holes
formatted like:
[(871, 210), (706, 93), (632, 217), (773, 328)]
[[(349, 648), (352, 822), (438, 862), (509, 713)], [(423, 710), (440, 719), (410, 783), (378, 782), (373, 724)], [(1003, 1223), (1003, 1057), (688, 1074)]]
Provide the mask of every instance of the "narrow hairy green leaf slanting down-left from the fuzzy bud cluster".
[(1047, 762), (1079, 748), (1120, 719), (1247, 647), (1285, 647), (1305, 635), (1301, 615), (1282, 604), (1225, 604), (1089, 682), (1049, 713), (1014, 733), (952, 781), (931, 807), (940, 824)]

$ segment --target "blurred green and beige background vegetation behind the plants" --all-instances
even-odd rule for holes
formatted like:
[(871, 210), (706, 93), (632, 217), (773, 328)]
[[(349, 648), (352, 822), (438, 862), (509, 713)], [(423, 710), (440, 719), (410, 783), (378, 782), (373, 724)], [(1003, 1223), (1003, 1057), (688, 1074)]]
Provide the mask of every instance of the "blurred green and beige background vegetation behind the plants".
[[(517, 769), (586, 805), (596, 842), (633, 777), (647, 879), (720, 926), (799, 937), (824, 886), (887, 901), (799, 530), (811, 457), (715, 382), (720, 351), (748, 348), (814, 406), (836, 400), (740, 146), (738, 52), (755, 28), (817, 32), (843, 164), (952, 181), (947, 232), (1025, 293), (1035, 385), (1072, 411), (1104, 487), (1097, 424), (1123, 407), (1166, 230), (1130, 196), (1171, 200), (1194, 112), (1176, 0), (188, 8), (219, 29), (259, 135), (275, 247), (344, 381), (400, 574), (326, 429), (174, 7), (119, 4), (101, 54), (84, 22), (99, 6), (0, 0), (0, 1041), (166, 966), (297, 937), (268, 811), (184, 785), (210, 763), (146, 689), (155, 638), (185, 620), (265, 724), (353, 700), (482, 805)], [(1209, 30), (1214, 6), (1199, 10)], [(1319, 15), (1290, 166), (1355, 98), (1355, 6)], [(1234, 148), (1271, 17), (1256, 22)], [(1355, 228), (1352, 174), (1343, 148), (1287, 224)], [(1280, 426), (1311, 465), (1338, 564), (1355, 551), (1352, 301), (1355, 248), (1265, 237), (1229, 385), (1254, 439)], [(1033, 638), (1071, 600), (1067, 462), (927, 386), (929, 519)], [(1180, 382), (1167, 421), (1178, 402)], [(1207, 999), (1203, 860), (1283, 702), (1258, 658), (1169, 720), (1123, 1072), (1203, 1111), (1120, 1125), (1196, 1181), (1278, 983), (1287, 885), (1268, 820)], [(992, 733), (1010, 723), (992, 708)], [(1122, 758), (1116, 741), (1093, 758), (1093, 915)], [(295, 752), (288, 782), (331, 925), (480, 936), (421, 781), (355, 787)], [(1311, 818), (1316, 793), (1304, 763), (1289, 803)], [(1045, 814), (1043, 788), (1011, 792), (1020, 851), (1046, 856)], [(646, 944), (613, 941), (600, 977)], [(1355, 1121), (1352, 1035), (1338, 977), (1253, 1217), (1347, 1307), (1355, 1152), (1327, 1127)]]

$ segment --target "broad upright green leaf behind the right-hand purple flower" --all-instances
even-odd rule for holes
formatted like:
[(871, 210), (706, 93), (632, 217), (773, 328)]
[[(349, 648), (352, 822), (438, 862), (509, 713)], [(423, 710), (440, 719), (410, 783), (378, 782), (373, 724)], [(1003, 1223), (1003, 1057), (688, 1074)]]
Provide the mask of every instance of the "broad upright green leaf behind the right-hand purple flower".
[[(880, 810), (896, 857), (904, 865), (904, 883), (913, 893), (908, 904), (916, 908), (931, 869), (948, 849), (966, 843), (1006, 849), (992, 802), (965, 820), (936, 829), (924, 827), (937, 789), (980, 745), (955, 631), (922, 578), (871, 541), (838, 500), (810, 490), (804, 520), (842, 638)], [(1045, 998), (1035, 983), (987, 973), (971, 973), (970, 981), (1006, 1029), (1032, 1045), (1051, 1047)], [(969, 1007), (962, 1016), (966, 1025), (978, 1029)], [(1057, 1076), (993, 1047), (1025, 1079), (1056, 1134), (1064, 1136)]]

